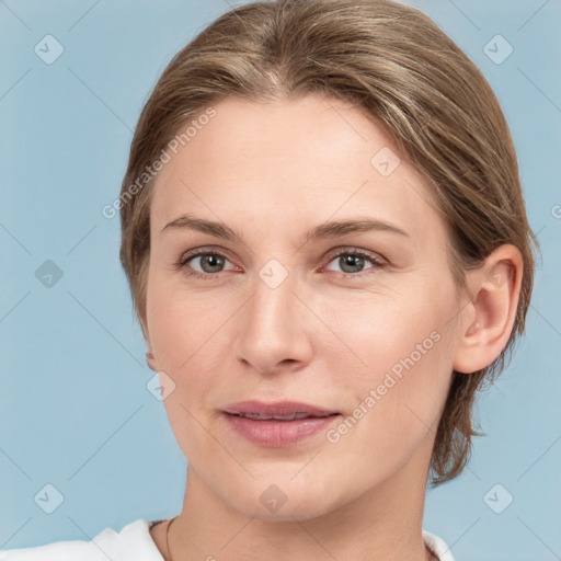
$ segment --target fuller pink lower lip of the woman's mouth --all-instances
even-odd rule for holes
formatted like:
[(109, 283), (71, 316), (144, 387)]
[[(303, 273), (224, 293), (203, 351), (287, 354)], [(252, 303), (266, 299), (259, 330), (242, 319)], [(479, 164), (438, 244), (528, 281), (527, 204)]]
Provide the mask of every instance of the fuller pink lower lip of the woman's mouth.
[(295, 419), (294, 421), (256, 421), (229, 413), (225, 413), (225, 416), (230, 426), (249, 442), (276, 448), (298, 444), (300, 440), (324, 431), (340, 415)]

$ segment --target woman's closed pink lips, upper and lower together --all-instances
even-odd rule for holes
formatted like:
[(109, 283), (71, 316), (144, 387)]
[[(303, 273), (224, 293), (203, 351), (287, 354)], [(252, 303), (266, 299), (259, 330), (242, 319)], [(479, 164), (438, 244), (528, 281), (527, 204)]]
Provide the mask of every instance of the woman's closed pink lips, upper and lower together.
[(267, 447), (298, 444), (341, 416), (337, 411), (295, 401), (244, 401), (228, 405), (222, 413), (238, 436)]

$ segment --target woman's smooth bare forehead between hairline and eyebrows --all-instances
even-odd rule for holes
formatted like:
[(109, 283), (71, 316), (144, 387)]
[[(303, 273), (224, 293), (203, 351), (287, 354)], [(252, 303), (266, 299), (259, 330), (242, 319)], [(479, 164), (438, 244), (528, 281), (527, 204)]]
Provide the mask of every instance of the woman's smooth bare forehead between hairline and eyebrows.
[[(182, 211), (248, 225), (371, 215), (412, 236), (444, 222), (417, 171), (363, 112), (317, 95), (276, 103), (227, 99), (160, 172), (151, 215)], [(278, 230), (277, 230), (278, 231)]]

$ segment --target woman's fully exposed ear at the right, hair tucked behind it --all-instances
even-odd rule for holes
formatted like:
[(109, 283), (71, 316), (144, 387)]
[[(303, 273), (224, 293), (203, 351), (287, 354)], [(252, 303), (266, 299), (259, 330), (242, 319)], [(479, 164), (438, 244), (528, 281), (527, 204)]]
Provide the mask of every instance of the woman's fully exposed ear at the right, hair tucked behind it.
[(468, 272), (473, 297), (461, 311), (455, 370), (471, 374), (500, 356), (516, 319), (523, 271), (519, 250), (505, 244), (493, 251), (481, 267)]

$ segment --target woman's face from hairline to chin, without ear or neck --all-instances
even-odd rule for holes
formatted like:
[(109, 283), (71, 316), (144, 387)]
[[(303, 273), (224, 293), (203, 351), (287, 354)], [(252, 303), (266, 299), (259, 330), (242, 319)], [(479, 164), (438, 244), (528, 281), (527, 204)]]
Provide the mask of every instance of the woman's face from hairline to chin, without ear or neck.
[[(424, 489), (460, 311), (425, 186), (340, 102), (215, 110), (169, 151), (151, 203), (148, 342), (175, 385), (164, 403), (190, 469), (264, 519)], [(248, 400), (335, 414), (225, 412)]]

